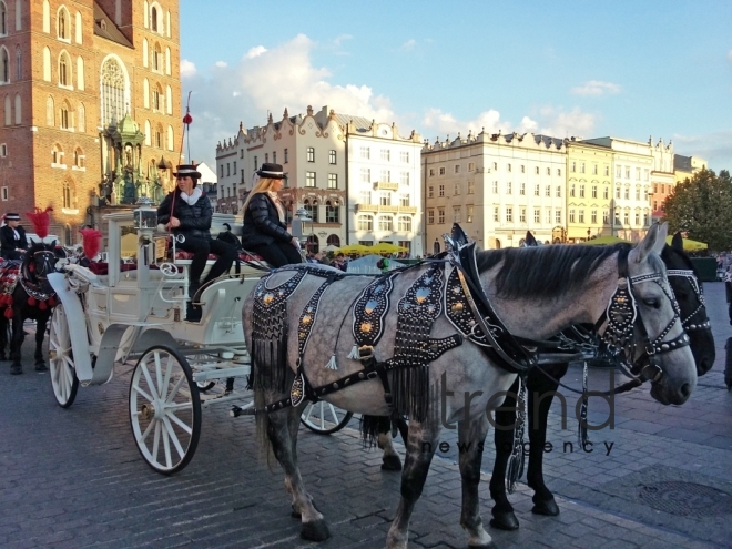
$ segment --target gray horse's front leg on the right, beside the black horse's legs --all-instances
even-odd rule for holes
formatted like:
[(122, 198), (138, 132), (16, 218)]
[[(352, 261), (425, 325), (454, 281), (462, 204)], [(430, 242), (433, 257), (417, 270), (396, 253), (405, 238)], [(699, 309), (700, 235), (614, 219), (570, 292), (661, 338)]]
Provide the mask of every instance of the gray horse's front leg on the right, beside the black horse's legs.
[(462, 514), (460, 526), (468, 530), (468, 547), (495, 548), (496, 545), (482, 528), (480, 518), (480, 465), (482, 448), (488, 433), (488, 418), (480, 414), (475, 420), (458, 421), (460, 477), (462, 478)]

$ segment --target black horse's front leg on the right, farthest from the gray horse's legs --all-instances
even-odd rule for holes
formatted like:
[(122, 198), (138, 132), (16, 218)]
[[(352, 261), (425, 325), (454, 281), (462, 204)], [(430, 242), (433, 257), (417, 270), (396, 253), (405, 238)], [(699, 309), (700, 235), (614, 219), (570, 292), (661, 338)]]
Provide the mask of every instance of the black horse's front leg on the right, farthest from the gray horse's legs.
[[(555, 379), (559, 380), (567, 374), (569, 364), (551, 364), (541, 368)], [(549, 379), (537, 368), (529, 370), (527, 393), (529, 394), (529, 469), (526, 475), (527, 484), (533, 489), (532, 512), (538, 515), (559, 515), (559, 507), (549, 488), (543, 484), (543, 448), (547, 443), (547, 421), (549, 408), (559, 385)], [(537, 403), (536, 399), (539, 398)], [(538, 408), (537, 408), (538, 407)], [(538, 421), (535, 421), (536, 419)]]

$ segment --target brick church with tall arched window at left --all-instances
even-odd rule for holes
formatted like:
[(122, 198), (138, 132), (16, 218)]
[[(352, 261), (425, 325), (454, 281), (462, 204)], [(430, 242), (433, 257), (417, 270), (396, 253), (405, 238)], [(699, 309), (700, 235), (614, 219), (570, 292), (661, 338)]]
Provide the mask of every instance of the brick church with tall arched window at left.
[[(160, 197), (180, 141), (177, 0), (0, 0), (0, 213)], [(100, 197), (102, 200), (100, 200)]]

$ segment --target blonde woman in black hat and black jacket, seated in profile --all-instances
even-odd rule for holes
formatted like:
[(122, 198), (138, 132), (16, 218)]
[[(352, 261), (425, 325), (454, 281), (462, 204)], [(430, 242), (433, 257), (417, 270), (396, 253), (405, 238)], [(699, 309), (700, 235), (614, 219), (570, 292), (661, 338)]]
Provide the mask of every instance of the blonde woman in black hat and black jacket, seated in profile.
[(285, 179), (282, 166), (265, 163), (256, 174), (260, 180), (244, 201), (242, 245), (273, 267), (302, 263), (299, 243), (287, 232), (285, 210), (277, 197)]

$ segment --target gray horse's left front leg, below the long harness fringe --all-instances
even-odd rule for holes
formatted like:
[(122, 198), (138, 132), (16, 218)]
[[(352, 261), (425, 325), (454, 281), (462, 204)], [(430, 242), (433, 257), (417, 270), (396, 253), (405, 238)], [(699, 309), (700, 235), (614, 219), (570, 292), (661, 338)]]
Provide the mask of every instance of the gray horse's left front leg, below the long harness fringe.
[(405, 440), (407, 456), (401, 471), (401, 499), (386, 538), (386, 547), (389, 549), (407, 547), (409, 517), (421, 496), (429, 464), (437, 449), (439, 430), (437, 418), (430, 417), (424, 423), (409, 420), (409, 434)]

